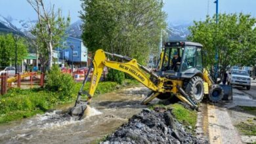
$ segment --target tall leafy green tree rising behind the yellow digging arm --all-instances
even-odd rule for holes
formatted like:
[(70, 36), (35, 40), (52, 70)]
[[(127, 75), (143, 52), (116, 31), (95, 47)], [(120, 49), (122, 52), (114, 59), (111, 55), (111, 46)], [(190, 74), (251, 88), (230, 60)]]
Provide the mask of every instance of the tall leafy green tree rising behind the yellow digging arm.
[(159, 0), (82, 0), (82, 39), (90, 52), (103, 48), (146, 63), (165, 29)]

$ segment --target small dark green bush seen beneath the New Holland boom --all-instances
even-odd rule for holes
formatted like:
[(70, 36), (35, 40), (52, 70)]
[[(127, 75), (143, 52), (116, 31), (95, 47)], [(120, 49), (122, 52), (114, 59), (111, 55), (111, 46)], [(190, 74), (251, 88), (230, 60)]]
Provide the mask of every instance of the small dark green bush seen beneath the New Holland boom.
[(121, 71), (117, 71), (116, 69), (110, 69), (107, 74), (107, 80), (122, 84), (125, 80), (125, 74)]

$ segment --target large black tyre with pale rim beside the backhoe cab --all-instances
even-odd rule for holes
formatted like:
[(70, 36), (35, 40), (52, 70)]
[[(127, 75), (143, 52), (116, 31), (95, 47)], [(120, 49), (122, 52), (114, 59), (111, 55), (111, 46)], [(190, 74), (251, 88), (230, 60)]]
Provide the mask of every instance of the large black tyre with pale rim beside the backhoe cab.
[(198, 76), (192, 77), (184, 86), (184, 90), (195, 104), (200, 103), (203, 99), (203, 79)]

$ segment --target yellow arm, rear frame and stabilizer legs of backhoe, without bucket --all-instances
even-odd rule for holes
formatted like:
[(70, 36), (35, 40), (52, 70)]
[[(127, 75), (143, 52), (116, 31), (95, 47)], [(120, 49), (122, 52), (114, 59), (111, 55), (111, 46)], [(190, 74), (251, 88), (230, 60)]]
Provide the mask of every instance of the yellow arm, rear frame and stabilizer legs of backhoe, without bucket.
[[(95, 57), (93, 59), (93, 75), (91, 78), (91, 85), (89, 87), (89, 95), (92, 97), (95, 94), (96, 86), (98, 85), (98, 82), (100, 81), (100, 77), (102, 75), (104, 67), (109, 67), (112, 69), (116, 69), (118, 71), (123, 71), (124, 73), (127, 73), (131, 75), (134, 79), (139, 81), (141, 84), (152, 90), (154, 95), (150, 96), (150, 98), (143, 101), (143, 104), (146, 104), (150, 102), (152, 99), (156, 98), (159, 94), (163, 94), (166, 92), (177, 94), (177, 97), (181, 99), (182, 101), (188, 103), (189, 105), (192, 105), (186, 98), (184, 98), (181, 94), (179, 94), (179, 90), (177, 89), (177, 85), (182, 87), (183, 82), (179, 80), (170, 80), (166, 78), (158, 77), (158, 83), (154, 84), (150, 80), (150, 78), (146, 75), (146, 73), (140, 69), (137, 60), (132, 59), (129, 62), (114, 62), (110, 61), (106, 58), (106, 54), (104, 50), (99, 49), (95, 52)], [(165, 85), (170, 86), (172, 89), (165, 89), (163, 87), (164, 82), (168, 83), (168, 81), (171, 81), (171, 85)], [(88, 97), (88, 101), (91, 100), (91, 97)]]

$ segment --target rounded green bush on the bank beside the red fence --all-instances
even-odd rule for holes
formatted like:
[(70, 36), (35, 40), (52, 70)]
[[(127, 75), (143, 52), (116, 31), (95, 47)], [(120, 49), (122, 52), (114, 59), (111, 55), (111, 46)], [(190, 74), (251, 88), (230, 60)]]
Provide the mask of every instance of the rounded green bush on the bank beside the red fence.
[(69, 74), (61, 73), (57, 65), (53, 65), (51, 71), (47, 73), (45, 88), (52, 92), (58, 92), (61, 100), (72, 98), (74, 85), (73, 77)]

